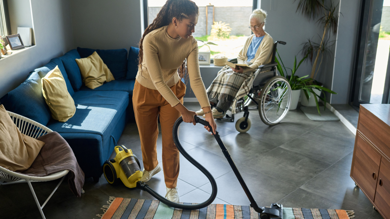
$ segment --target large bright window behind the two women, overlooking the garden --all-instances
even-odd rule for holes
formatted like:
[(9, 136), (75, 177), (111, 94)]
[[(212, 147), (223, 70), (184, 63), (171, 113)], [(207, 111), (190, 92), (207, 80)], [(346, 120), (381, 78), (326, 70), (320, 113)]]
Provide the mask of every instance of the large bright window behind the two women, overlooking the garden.
[[(210, 41), (199, 51), (210, 51), (211, 58), (225, 56), (237, 58), (246, 38), (252, 34), (248, 28), (249, 16), (257, 0), (193, 0), (199, 7), (195, 39)], [(166, 0), (148, 0), (148, 25), (156, 18)], [(254, 6), (256, 5), (256, 6)]]

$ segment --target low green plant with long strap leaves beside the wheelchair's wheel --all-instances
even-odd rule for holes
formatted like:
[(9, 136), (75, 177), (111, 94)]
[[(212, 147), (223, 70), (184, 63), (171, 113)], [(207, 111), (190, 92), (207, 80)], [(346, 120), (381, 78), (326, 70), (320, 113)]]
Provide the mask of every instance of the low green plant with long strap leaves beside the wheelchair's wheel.
[[(320, 85), (318, 85), (318, 82), (315, 81), (314, 79), (312, 78), (307, 78), (308, 75), (306, 76), (303, 76), (303, 77), (298, 77), (295, 75), (296, 73), (296, 70), (298, 69), (298, 67), (302, 64), (302, 62), (308, 58), (308, 54), (305, 55), (305, 57), (303, 57), (299, 64), (296, 65), (296, 56), (295, 56), (295, 59), (294, 59), (294, 66), (293, 68), (289, 68), (289, 67), (285, 67), (283, 62), (282, 62), (282, 59), (280, 58), (280, 55), (277, 51), (277, 54), (278, 54), (278, 57), (279, 57), (279, 60), (277, 57), (275, 57), (275, 62), (278, 63), (277, 65), (277, 69), (278, 69), (278, 72), (280, 73), (281, 76), (287, 78), (287, 80), (289, 81), (289, 84), (290, 84), (290, 87), (291, 87), (291, 90), (299, 90), (299, 89), (302, 89), (303, 90), (303, 93), (305, 94), (305, 97), (307, 99), (310, 98), (310, 95), (314, 95), (314, 99), (316, 101), (316, 106), (317, 106), (317, 111), (318, 111), (318, 114), (321, 115), (321, 112), (319, 111), (319, 103), (318, 103), (318, 100), (316, 97), (319, 97), (319, 99), (321, 99), (322, 101), (324, 101), (324, 110), (326, 109), (326, 98), (325, 97), (325, 92), (328, 92), (328, 93), (331, 93), (331, 94), (337, 94), (336, 92), (328, 89), (328, 88), (325, 88), (325, 87), (322, 87)], [(284, 71), (283, 71), (284, 69)], [(291, 75), (288, 75), (287, 74), (287, 69), (289, 69), (291, 71)], [(305, 79), (306, 78), (306, 79)], [(317, 95), (313, 89), (317, 89), (319, 91), (321, 91), (320, 95)], [(324, 97), (321, 97), (321, 94), (324, 94)]]

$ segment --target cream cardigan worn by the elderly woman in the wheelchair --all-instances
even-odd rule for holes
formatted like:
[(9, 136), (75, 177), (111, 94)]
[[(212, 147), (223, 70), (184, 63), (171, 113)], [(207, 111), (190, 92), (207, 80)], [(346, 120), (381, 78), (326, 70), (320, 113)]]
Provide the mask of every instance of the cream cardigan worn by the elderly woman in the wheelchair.
[[(254, 36), (255, 34), (252, 34), (246, 39), (244, 48), (241, 49), (237, 57), (238, 64), (244, 64), (244, 60), (248, 59), (246, 53), (248, 52), (248, 48)], [(271, 62), (272, 49), (273, 49), (273, 39), (269, 34), (266, 33), (266, 35), (264, 35), (264, 38), (259, 45), (259, 48), (256, 51), (255, 58), (250, 60), (250, 62), (253, 63), (252, 65), (249, 65), (251, 68), (244, 69), (244, 73), (248, 71), (255, 71), (255, 69), (257, 69), (257, 67), (259, 67), (260, 65), (268, 64), (269, 62)]]

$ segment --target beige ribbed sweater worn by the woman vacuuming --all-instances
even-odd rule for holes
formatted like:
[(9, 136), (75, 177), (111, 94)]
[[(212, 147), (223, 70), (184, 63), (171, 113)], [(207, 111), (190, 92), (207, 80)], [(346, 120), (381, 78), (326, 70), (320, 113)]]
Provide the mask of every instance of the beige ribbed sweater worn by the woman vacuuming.
[(142, 43), (144, 57), (138, 66), (136, 79), (142, 86), (158, 90), (160, 94), (172, 105), (176, 106), (180, 101), (169, 87), (179, 80), (177, 69), (187, 58), (187, 68), (191, 88), (202, 108), (210, 106), (200, 77), (198, 44), (195, 38), (173, 39), (167, 33), (168, 26), (163, 26), (147, 34)]

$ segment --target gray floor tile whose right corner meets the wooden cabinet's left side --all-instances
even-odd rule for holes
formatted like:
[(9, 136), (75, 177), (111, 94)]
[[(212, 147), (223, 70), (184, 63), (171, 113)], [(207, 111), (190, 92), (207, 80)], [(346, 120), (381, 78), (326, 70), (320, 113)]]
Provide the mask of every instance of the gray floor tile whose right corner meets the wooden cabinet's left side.
[(352, 152), (353, 145), (349, 141), (340, 141), (332, 136), (327, 137), (310, 131), (280, 147), (334, 164)]

